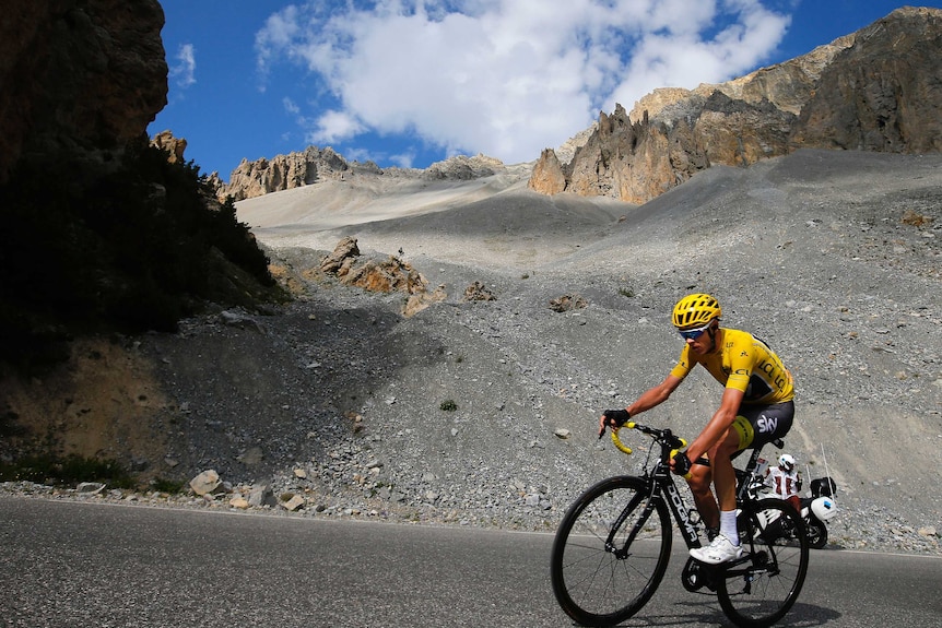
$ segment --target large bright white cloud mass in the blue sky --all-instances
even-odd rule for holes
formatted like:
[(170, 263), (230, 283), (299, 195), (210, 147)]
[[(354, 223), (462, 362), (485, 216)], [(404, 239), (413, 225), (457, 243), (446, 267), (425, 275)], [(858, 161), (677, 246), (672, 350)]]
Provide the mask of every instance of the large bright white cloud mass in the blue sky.
[(311, 99), (331, 95), (328, 110), (313, 107), (309, 138), (413, 133), (448, 153), (507, 163), (535, 158), (616, 102), (631, 109), (655, 87), (740, 75), (789, 25), (761, 0), (364, 4), (291, 5), (256, 36), (263, 76), (297, 63)]

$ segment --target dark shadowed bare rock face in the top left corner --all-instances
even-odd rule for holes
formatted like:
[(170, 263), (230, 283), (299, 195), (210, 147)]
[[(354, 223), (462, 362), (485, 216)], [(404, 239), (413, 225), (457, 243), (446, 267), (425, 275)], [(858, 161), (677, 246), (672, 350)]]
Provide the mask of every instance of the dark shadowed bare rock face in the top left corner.
[(107, 166), (167, 103), (157, 0), (5, 2), (0, 183), (28, 157)]

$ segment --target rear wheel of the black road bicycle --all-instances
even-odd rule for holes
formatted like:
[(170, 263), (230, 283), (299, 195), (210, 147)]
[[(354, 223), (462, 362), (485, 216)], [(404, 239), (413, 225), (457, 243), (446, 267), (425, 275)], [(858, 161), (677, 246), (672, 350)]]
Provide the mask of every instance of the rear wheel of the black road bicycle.
[(742, 628), (772, 626), (798, 600), (808, 574), (804, 522), (790, 503), (773, 498), (745, 502), (738, 523), (742, 558), (721, 566), (720, 607)]

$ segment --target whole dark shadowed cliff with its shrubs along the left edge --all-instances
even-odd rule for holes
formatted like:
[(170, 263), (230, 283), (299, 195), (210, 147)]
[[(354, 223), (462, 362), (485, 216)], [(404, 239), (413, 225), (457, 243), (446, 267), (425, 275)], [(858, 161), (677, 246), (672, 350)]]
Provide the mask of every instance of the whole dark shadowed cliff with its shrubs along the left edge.
[(0, 10), (0, 367), (268, 295), (268, 261), (232, 204), (181, 150), (149, 145), (167, 95), (160, 3)]

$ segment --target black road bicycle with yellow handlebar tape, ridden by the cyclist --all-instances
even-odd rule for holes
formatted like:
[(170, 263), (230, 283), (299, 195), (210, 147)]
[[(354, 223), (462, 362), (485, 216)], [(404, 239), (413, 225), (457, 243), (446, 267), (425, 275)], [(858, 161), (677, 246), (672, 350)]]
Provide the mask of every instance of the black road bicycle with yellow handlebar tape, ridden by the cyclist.
[[(586, 490), (563, 517), (553, 543), (553, 593), (563, 611), (584, 626), (624, 621), (651, 599), (671, 556), (671, 516), (687, 547), (700, 547), (702, 522), (687, 509), (670, 472), (671, 457), (686, 442), (670, 429), (636, 423), (625, 427), (646, 434), (657, 446), (648, 449), (644, 474), (610, 477)], [(617, 431), (612, 430), (615, 447), (632, 453)], [(784, 448), (780, 439), (773, 443)], [(753, 449), (744, 470), (737, 470), (742, 556), (721, 565), (688, 558), (681, 574), (687, 591), (716, 592), (727, 617), (743, 627), (781, 619), (808, 572), (801, 516), (782, 499), (758, 499), (749, 491), (760, 449)]]

